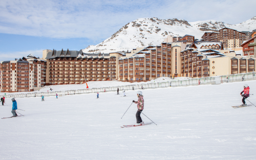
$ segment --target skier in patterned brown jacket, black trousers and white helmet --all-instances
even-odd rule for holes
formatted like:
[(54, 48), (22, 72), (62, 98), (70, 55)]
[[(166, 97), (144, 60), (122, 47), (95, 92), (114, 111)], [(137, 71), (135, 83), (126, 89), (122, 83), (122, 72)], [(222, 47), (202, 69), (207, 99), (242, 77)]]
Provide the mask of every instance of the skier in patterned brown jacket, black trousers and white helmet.
[(139, 126), (139, 125), (142, 125), (142, 119), (140, 117), (140, 113), (142, 112), (142, 110), (144, 109), (144, 99), (143, 99), (143, 95), (142, 95), (142, 92), (141, 91), (138, 91), (137, 92), (137, 96), (138, 96), (138, 101), (135, 101), (133, 100), (132, 102), (136, 103), (137, 104), (137, 108), (138, 108), (138, 111), (136, 113), (136, 120), (137, 120), (137, 123), (135, 124), (135, 126)]

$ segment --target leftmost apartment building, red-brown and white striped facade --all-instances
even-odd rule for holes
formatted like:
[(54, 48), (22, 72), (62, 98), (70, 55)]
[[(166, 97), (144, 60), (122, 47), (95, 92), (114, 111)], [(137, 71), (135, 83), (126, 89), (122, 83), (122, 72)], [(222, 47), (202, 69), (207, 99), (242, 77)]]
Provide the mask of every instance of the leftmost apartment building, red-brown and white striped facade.
[(34, 91), (46, 85), (46, 61), (32, 54), (1, 62), (1, 92)]

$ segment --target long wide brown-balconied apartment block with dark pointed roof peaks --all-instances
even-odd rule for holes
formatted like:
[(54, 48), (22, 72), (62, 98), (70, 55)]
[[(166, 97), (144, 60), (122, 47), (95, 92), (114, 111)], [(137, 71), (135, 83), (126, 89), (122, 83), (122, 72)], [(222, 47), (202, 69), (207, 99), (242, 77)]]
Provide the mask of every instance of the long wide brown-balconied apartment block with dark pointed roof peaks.
[(116, 80), (117, 56), (123, 53), (85, 54), (74, 50), (44, 50), (47, 85), (82, 84), (88, 81)]

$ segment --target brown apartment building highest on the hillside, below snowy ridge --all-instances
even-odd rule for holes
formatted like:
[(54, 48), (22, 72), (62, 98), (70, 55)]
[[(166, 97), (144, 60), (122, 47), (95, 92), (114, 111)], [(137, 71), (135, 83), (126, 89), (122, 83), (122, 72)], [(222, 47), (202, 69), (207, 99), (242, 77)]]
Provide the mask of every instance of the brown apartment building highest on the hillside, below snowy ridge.
[(210, 42), (222, 42), (224, 48), (238, 48), (245, 40), (250, 39), (250, 32), (222, 28), (219, 32), (205, 32), (202, 39)]

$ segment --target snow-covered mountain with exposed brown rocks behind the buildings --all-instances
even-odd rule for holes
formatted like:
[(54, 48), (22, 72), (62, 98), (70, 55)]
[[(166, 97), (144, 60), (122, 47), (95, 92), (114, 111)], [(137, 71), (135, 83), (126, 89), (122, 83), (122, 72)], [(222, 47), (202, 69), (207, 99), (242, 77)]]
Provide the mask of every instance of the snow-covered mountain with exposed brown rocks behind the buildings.
[(114, 33), (100, 44), (88, 46), (85, 53), (116, 52), (132, 50), (136, 47), (158, 45), (168, 34), (184, 36), (190, 34), (201, 39), (206, 31), (218, 31), (223, 27), (238, 31), (252, 31), (256, 29), (256, 16), (240, 24), (226, 24), (216, 20), (187, 22), (177, 18), (161, 20), (158, 18), (140, 18), (132, 21)]

